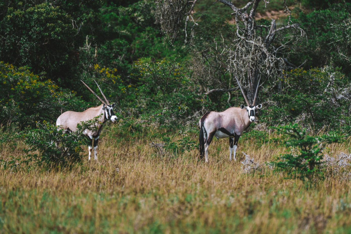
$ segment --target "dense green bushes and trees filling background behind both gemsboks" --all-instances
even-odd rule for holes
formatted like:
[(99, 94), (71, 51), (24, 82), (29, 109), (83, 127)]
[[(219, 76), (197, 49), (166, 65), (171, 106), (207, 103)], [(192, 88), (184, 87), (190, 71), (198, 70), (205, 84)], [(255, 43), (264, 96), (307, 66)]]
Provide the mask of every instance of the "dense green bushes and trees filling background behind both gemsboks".
[[(277, 57), (287, 53), (292, 66), (303, 63), (303, 68), (284, 71), (284, 77), (263, 75), (259, 99), (264, 108), (258, 119), (265, 126), (298, 123), (314, 133), (350, 133), (351, 5), (286, 3), (294, 7), (292, 21), (302, 24), (308, 40), (284, 31), (272, 47), (285, 46), (274, 52)], [(236, 4), (243, 7), (246, 1)], [(232, 48), (227, 45), (236, 43), (237, 25), (219, 2), (199, 2), (196, 25), (187, 21), (172, 44), (155, 24), (153, 1), (15, 0), (0, 5), (3, 131), (35, 127), (35, 121), (54, 123), (64, 111), (99, 105), (80, 80), (95, 91), (94, 80), (99, 83), (117, 104), (121, 128), (133, 134), (147, 125), (194, 129), (206, 111), (244, 103), (238, 90), (207, 93), (237, 86), (227, 64)], [(278, 0), (266, 9), (260, 4), (257, 17), (282, 7)], [(285, 20), (281, 16), (277, 27)], [(271, 20), (260, 18), (257, 25), (269, 28)], [(264, 27), (257, 31), (261, 38), (267, 32)], [(250, 136), (265, 142), (262, 131)]]

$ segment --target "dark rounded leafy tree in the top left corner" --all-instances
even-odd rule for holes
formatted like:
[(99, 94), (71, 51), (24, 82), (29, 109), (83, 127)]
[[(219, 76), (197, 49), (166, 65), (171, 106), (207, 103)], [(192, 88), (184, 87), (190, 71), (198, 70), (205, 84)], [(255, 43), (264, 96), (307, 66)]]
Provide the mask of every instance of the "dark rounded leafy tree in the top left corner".
[(0, 21), (0, 32), (4, 35), (0, 42), (1, 59), (33, 67), (37, 72), (49, 68), (46, 72), (51, 77), (67, 72), (74, 56), (68, 56), (67, 52), (74, 49), (72, 36), (76, 33), (71, 16), (49, 3), (27, 9), (21, 5), (9, 7)]

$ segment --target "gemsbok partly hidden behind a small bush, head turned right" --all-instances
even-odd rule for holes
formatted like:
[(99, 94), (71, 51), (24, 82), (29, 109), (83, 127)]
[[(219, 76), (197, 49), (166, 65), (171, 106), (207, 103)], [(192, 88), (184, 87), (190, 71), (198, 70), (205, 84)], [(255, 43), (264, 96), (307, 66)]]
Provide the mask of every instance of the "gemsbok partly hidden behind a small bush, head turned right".
[[(82, 80), (81, 80), (82, 81)], [(95, 81), (95, 80), (94, 80)], [(83, 82), (83, 81), (82, 81)], [(84, 82), (83, 82), (84, 83)], [(98, 83), (95, 81), (97, 84), (98, 88), (100, 89)], [(83, 132), (84, 135), (86, 135), (89, 140), (91, 140), (91, 144), (89, 147), (89, 160), (91, 158), (91, 153), (93, 151), (92, 145), (94, 147), (94, 159), (97, 160), (97, 149), (98, 149), (98, 141), (99, 141), (99, 136), (103, 127), (103, 124), (109, 119), (112, 122), (117, 120), (117, 116), (113, 112), (113, 107), (115, 106), (115, 103), (110, 105), (110, 102), (106, 99), (104, 93), (102, 93), (101, 89), (100, 92), (102, 96), (104, 97), (105, 101), (104, 102), (94, 91), (89, 88), (86, 83), (84, 85), (102, 102), (100, 106), (97, 107), (90, 107), (86, 109), (83, 112), (74, 112), (74, 111), (66, 111), (62, 113), (59, 118), (56, 120), (56, 126), (58, 126), (61, 129), (64, 129), (64, 133), (69, 133), (69, 132), (75, 132), (77, 131), (77, 124), (80, 123), (81, 121), (88, 121), (92, 120), (97, 116), (100, 116), (98, 118), (99, 123), (96, 123), (97, 130), (96, 131), (90, 131), (89, 129), (85, 129)]]

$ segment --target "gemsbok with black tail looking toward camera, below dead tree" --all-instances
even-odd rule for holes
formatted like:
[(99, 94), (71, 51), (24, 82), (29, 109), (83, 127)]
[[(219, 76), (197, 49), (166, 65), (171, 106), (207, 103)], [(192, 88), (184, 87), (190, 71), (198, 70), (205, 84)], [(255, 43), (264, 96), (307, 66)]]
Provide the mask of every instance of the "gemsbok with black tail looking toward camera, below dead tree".
[(233, 159), (236, 160), (239, 137), (255, 121), (255, 110), (262, 107), (262, 104), (255, 106), (260, 80), (258, 80), (253, 103), (250, 105), (238, 79), (235, 79), (244, 95), (247, 106), (230, 107), (223, 112), (209, 111), (201, 117), (199, 121), (199, 150), (202, 157), (205, 155), (205, 162), (208, 162), (208, 146), (210, 146), (213, 136), (216, 136), (217, 139), (229, 137), (229, 161), (232, 160), (232, 153)]

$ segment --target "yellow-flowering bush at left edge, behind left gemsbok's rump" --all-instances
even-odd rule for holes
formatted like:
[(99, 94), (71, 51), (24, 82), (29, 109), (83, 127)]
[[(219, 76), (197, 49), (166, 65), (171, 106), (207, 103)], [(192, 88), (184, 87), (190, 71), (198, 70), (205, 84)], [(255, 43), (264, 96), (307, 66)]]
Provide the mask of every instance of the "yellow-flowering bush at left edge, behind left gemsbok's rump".
[(55, 120), (68, 108), (85, 107), (74, 91), (62, 90), (50, 79), (33, 74), (26, 67), (0, 62), (0, 124), (34, 125)]

